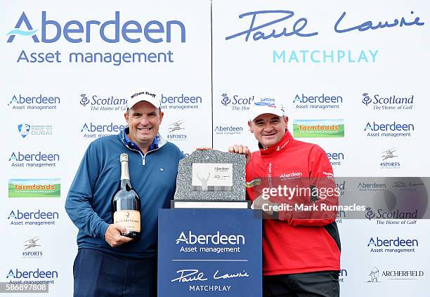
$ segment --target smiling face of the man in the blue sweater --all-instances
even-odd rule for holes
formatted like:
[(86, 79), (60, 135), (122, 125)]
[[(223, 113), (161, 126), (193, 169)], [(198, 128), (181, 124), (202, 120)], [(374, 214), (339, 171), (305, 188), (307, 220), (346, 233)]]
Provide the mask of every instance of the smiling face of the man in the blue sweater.
[(159, 125), (164, 113), (147, 101), (141, 101), (133, 105), (124, 114), (129, 124), (129, 139), (136, 143), (146, 153), (157, 136)]

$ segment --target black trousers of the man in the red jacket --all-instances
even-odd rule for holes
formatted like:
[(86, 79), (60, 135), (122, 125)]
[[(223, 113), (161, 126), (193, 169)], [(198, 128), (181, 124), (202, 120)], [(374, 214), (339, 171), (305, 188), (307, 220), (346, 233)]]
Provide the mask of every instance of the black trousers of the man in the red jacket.
[(339, 271), (264, 276), (263, 296), (339, 297)]

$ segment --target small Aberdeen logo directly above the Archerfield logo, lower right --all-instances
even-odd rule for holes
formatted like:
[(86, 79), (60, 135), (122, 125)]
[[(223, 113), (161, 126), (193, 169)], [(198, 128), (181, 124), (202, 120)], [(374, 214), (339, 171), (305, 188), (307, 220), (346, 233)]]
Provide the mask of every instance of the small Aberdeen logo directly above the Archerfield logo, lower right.
[(367, 247), (371, 253), (415, 253), (418, 239), (370, 237)]

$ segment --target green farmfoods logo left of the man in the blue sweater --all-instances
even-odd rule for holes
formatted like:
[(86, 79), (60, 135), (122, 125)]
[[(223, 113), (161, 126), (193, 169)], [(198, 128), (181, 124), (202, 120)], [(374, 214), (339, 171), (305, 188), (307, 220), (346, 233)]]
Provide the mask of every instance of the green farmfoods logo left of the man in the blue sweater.
[(60, 198), (60, 178), (11, 179), (9, 198)]

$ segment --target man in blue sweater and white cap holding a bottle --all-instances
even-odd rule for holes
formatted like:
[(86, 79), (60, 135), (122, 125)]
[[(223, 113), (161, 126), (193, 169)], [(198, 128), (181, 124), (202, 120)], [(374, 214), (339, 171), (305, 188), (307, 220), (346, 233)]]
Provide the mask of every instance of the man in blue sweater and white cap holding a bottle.
[[(94, 140), (67, 194), (65, 209), (79, 229), (74, 296), (157, 296), (158, 209), (169, 208), (181, 150), (158, 134), (164, 113), (159, 94), (139, 90), (124, 114), (129, 125), (117, 136)], [(129, 154), (129, 174), (141, 197), (141, 240), (112, 224), (110, 199), (121, 176), (119, 155)]]

